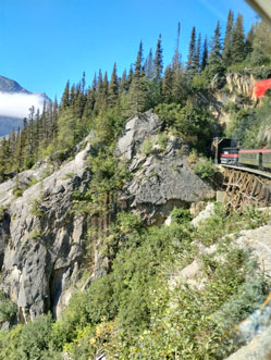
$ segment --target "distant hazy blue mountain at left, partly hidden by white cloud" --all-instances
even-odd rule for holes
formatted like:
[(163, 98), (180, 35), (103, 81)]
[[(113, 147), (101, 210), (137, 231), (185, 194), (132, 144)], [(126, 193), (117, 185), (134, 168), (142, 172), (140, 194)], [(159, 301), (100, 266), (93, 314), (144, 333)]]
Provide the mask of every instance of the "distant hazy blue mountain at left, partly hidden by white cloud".
[[(1, 96), (9, 99), (12, 99), (11, 104), (3, 103), (4, 100), (2, 98), (2, 104), (0, 101), (0, 137), (5, 136), (11, 133), (12, 129), (16, 131), (19, 127), (23, 127), (23, 119), (27, 117), (27, 114), (25, 113), (22, 116), (17, 116), (16, 111), (20, 105), (22, 107), (22, 101), (20, 101), (20, 104), (16, 102), (16, 98), (13, 96), (19, 96), (20, 99), (23, 98), (23, 101), (26, 102), (26, 108), (29, 109), (32, 105), (35, 105), (35, 103), (32, 103), (32, 101), (35, 100), (35, 102), (49, 102), (51, 101), (50, 98), (46, 94), (37, 94), (37, 92), (30, 92), (27, 89), (23, 88), (17, 82), (10, 79), (8, 77), (0, 75), (0, 100)], [(20, 95), (25, 97), (20, 97)], [(29, 98), (27, 97), (29, 96)], [(37, 105), (36, 105), (37, 107)], [(35, 108), (36, 108), (35, 107)], [(9, 111), (9, 114), (7, 114), (7, 108)], [(10, 112), (12, 112), (12, 109), (14, 109), (14, 115), (10, 115)]]

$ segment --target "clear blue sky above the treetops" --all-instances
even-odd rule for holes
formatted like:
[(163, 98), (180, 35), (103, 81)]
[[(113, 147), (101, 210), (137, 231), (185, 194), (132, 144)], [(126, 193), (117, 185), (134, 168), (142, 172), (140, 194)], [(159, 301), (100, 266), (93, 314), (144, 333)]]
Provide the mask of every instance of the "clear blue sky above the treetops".
[(91, 84), (95, 71), (121, 75), (135, 62), (139, 41), (145, 55), (162, 35), (164, 64), (173, 55), (177, 23), (186, 60), (193, 25), (210, 38), (227, 12), (243, 13), (245, 29), (257, 20), (243, 0), (1, 0), (0, 75), (35, 92), (61, 97), (67, 79), (83, 71)]

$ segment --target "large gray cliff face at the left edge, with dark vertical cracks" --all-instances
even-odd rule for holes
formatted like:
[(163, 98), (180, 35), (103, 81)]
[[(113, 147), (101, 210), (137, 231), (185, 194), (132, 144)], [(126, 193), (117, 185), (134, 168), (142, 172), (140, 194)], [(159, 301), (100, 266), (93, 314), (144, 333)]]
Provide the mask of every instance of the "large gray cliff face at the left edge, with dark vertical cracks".
[[(15, 179), (0, 184), (0, 265), (2, 289), (17, 305), (20, 322), (51, 309), (58, 318), (67, 305), (82, 274), (86, 221), (73, 209), (73, 190), (84, 189), (88, 148), (52, 175), (14, 198)], [(45, 169), (24, 172), (27, 183)]]

